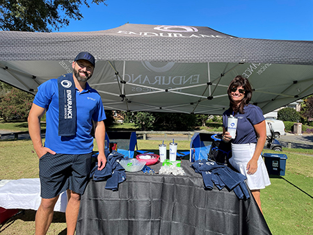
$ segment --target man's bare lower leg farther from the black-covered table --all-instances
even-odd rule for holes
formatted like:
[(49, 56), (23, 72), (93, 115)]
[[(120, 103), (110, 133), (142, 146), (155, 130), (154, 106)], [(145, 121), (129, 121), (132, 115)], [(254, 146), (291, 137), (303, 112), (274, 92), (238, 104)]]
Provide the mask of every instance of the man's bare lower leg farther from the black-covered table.
[(42, 198), (35, 216), (35, 235), (45, 235), (54, 217), (54, 205), (58, 196), (54, 198)]

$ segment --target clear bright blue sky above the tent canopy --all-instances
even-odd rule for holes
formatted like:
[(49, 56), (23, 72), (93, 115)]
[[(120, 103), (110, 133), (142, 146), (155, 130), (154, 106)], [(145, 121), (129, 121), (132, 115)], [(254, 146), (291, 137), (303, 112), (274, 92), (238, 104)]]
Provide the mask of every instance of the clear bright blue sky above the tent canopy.
[[(88, 0), (91, 2), (91, 0)], [(239, 38), (313, 40), (313, 0), (106, 0), (81, 7), (83, 19), (58, 32), (123, 24), (207, 26)]]

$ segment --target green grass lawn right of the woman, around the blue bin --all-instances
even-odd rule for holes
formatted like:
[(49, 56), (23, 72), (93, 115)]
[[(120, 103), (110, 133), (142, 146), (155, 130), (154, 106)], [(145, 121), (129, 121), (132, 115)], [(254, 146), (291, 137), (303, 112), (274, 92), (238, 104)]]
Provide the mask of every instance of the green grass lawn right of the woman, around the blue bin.
[(313, 156), (287, 151), (286, 174), (261, 191), (264, 217), (273, 234), (313, 234)]

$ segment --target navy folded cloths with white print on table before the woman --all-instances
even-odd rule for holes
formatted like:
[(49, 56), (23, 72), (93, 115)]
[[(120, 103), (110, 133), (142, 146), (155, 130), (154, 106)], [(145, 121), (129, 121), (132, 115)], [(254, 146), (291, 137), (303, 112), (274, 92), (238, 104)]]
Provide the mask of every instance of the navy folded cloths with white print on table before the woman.
[(234, 191), (239, 199), (249, 198), (248, 188), (245, 180), (246, 176), (214, 161), (198, 160), (191, 165), (195, 172), (202, 175), (204, 188), (212, 189), (213, 184), (218, 189), (226, 187)]

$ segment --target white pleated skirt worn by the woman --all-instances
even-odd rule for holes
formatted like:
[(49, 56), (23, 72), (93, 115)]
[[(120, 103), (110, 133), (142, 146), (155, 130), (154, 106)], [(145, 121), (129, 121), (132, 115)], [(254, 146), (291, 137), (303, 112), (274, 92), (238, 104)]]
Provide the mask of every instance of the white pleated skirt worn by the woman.
[(230, 164), (232, 164), (236, 170), (241, 172), (242, 175), (246, 175), (246, 183), (250, 190), (262, 189), (271, 184), (266, 165), (261, 155), (259, 156), (259, 160), (257, 160), (257, 171), (255, 174), (247, 174), (247, 164), (248, 161), (252, 159), (255, 152), (255, 145), (255, 143), (243, 145), (235, 145), (232, 143), (232, 157), (230, 158)]

